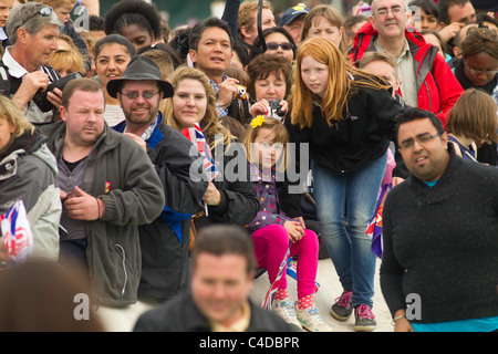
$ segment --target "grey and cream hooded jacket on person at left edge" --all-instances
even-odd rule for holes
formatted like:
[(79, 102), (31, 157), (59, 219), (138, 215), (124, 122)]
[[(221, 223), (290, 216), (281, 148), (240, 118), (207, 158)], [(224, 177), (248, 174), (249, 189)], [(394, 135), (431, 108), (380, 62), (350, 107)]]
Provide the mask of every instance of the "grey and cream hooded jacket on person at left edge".
[(0, 215), (21, 199), (33, 235), (32, 257), (59, 259), (61, 199), (46, 137), (25, 133), (0, 155)]

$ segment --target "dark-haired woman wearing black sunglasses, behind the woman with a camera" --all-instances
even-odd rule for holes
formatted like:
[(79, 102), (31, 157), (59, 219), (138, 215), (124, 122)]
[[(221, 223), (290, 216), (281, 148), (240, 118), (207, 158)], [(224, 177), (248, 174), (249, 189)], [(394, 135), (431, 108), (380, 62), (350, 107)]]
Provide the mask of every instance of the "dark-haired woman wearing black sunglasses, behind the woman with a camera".
[(295, 59), (295, 43), (292, 35), (281, 27), (273, 27), (262, 31), (266, 48), (262, 45), (259, 37), (252, 43), (256, 51), (249, 55), (249, 61), (259, 54), (276, 54), (287, 59), (292, 64)]

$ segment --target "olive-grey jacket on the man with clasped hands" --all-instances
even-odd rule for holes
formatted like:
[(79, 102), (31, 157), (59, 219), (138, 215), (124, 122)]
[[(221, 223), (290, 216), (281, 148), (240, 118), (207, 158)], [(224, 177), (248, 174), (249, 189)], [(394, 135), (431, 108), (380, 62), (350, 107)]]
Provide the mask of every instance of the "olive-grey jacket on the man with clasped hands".
[[(44, 126), (42, 133), (59, 159), (65, 123)], [(160, 180), (146, 152), (107, 124), (85, 168), (82, 189), (105, 204), (102, 218), (86, 227), (93, 295), (103, 305), (135, 303), (142, 268), (138, 226), (154, 221), (163, 210)]]

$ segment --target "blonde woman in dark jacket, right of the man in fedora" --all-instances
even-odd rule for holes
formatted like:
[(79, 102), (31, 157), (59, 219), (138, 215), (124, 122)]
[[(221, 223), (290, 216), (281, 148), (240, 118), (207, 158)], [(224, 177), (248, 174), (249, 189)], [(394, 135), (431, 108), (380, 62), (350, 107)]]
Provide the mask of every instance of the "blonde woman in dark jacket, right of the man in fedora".
[[(196, 219), (196, 223), (247, 225), (255, 218), (259, 201), (249, 180), (243, 146), (236, 142), (219, 121), (215, 90), (209, 79), (197, 69), (180, 66), (169, 76), (169, 82), (175, 94), (166, 100), (166, 124), (178, 131), (198, 124), (220, 171), (220, 175), (209, 183), (203, 198), (208, 206), (207, 218)], [(242, 168), (239, 169), (238, 166)], [(243, 168), (247, 173), (243, 173)]]

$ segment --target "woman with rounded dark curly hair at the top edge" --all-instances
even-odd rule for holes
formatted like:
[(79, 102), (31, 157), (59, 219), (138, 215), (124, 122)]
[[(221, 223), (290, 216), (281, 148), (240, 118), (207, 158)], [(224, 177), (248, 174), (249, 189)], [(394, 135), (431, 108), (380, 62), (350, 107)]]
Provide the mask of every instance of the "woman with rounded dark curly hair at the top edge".
[(160, 14), (154, 4), (143, 0), (124, 0), (105, 14), (105, 34), (127, 38), (136, 50), (162, 39)]

